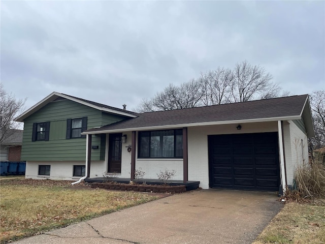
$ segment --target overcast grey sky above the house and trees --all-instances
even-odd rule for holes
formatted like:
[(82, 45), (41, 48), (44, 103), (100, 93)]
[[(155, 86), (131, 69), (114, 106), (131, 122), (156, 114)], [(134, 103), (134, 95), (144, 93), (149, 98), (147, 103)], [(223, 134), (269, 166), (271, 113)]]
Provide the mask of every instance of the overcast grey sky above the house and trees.
[(52, 92), (131, 110), (218, 66), (325, 88), (325, 2), (1, 1), (1, 82), (28, 109)]

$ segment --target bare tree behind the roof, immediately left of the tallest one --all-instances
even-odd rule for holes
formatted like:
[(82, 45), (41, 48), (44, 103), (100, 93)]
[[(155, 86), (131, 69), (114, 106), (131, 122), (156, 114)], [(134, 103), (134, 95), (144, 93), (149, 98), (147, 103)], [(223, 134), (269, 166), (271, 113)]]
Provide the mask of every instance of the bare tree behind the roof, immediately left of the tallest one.
[(202, 103), (205, 106), (230, 102), (233, 72), (218, 67), (216, 70), (201, 72), (200, 83), (203, 92)]

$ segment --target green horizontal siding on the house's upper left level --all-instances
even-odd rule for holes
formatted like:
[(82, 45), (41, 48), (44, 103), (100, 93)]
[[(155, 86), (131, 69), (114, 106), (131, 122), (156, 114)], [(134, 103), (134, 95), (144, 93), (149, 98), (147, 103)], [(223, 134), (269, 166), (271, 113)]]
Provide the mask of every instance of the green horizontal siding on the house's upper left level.
[[(115, 123), (124, 117), (70, 101), (51, 102), (24, 120), (21, 159), (24, 161), (81, 161), (86, 157), (86, 139), (66, 139), (67, 119), (87, 116), (87, 129)], [(32, 124), (50, 121), (49, 141), (31, 141)], [(91, 160), (104, 160), (105, 135), (93, 135)]]

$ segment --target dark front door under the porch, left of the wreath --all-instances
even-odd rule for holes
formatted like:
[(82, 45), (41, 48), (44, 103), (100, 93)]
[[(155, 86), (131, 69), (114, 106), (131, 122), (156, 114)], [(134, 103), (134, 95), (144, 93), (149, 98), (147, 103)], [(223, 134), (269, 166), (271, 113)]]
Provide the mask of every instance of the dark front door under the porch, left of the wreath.
[(122, 134), (109, 135), (108, 172), (121, 173)]

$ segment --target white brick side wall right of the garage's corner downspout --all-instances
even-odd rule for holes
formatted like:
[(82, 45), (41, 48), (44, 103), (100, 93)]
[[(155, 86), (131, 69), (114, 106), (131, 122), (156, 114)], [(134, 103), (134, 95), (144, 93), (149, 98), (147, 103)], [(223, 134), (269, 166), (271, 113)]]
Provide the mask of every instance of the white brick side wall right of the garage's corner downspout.
[(287, 184), (293, 185), (297, 165), (308, 164), (307, 136), (293, 121), (283, 123), (283, 134)]

